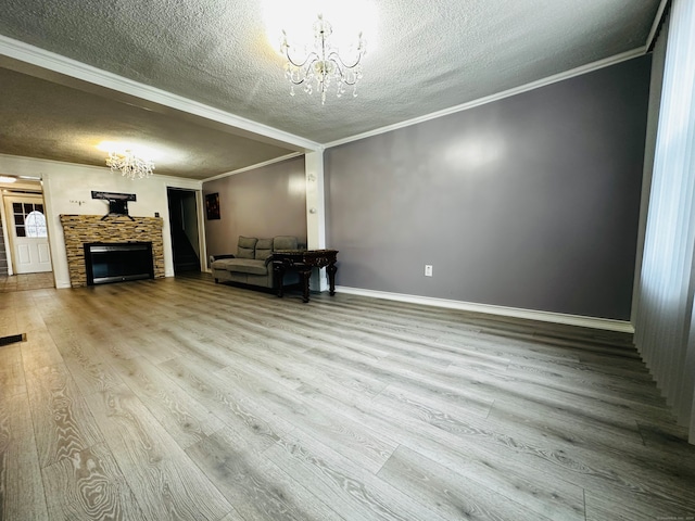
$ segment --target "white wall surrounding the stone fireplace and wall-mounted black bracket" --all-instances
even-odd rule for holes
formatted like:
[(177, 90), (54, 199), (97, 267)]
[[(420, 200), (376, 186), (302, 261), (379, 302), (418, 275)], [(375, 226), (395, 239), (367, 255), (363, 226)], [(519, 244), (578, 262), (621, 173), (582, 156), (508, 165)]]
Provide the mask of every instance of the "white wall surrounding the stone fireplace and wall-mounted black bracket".
[(201, 190), (200, 181), (156, 175), (148, 179), (129, 180), (112, 174), (105, 166), (85, 166), (2, 154), (0, 154), (0, 171), (13, 176), (40, 177), (43, 181), (43, 199), (56, 288), (70, 288), (67, 256), (60, 215), (104, 215), (109, 211), (104, 201), (91, 199), (92, 190), (135, 193), (137, 201), (128, 203), (128, 211), (132, 216), (154, 217), (159, 212), (164, 219), (164, 271), (166, 277), (174, 276), (166, 189), (172, 187)]

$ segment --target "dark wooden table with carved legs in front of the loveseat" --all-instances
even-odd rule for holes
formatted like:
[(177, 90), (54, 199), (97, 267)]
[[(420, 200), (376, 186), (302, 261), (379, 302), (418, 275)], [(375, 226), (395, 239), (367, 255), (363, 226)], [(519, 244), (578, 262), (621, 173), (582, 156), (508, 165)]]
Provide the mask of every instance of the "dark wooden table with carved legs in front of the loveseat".
[(278, 282), (278, 296), (285, 294), (282, 280), (287, 268), (294, 268), (302, 278), (302, 301), (308, 302), (308, 279), (312, 268), (326, 268), (330, 295), (336, 294), (336, 260), (338, 250), (281, 250), (273, 252), (273, 269)]

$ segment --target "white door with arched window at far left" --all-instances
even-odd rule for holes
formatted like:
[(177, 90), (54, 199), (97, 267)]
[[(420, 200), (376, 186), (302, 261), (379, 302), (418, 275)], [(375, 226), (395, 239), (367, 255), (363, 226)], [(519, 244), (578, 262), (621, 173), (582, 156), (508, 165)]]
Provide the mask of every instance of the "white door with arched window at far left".
[(51, 251), (40, 195), (5, 198), (5, 215), (10, 221), (10, 242), (15, 274), (51, 271)]

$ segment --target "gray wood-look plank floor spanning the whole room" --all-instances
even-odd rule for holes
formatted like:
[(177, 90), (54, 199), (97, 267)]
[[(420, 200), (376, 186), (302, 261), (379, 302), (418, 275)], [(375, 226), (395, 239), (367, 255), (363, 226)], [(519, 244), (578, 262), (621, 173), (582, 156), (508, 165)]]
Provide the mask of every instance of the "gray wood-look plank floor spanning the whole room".
[(667, 520), (629, 335), (207, 275), (0, 294), (2, 520)]

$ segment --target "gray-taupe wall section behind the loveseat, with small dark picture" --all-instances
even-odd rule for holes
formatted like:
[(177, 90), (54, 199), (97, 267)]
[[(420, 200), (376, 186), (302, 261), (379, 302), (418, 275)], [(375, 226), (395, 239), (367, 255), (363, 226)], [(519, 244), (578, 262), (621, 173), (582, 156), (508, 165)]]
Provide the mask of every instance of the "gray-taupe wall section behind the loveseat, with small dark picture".
[(304, 157), (203, 183), (219, 193), (219, 220), (205, 219), (208, 255), (236, 253), (239, 236), (296, 236), (306, 244)]

